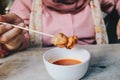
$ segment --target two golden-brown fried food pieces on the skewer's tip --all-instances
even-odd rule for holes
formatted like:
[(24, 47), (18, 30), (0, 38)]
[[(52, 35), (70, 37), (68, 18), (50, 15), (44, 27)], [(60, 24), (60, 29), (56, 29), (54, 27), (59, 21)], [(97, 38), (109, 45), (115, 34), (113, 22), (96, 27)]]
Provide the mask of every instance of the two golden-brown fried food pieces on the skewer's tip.
[(67, 37), (63, 33), (59, 33), (52, 38), (52, 43), (55, 46), (60, 48), (66, 47), (67, 49), (71, 49), (78, 42), (77, 36)]

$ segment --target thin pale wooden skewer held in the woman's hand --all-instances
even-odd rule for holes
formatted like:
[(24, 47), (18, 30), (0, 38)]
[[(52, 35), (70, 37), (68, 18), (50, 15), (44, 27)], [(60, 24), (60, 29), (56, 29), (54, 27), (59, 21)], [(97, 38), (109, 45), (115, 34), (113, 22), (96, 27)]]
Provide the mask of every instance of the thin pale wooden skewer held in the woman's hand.
[(54, 37), (51, 34), (47, 34), (47, 33), (39, 32), (39, 31), (35, 31), (35, 30), (32, 30), (32, 29), (24, 28), (24, 27), (21, 27), (21, 26), (17, 26), (17, 25), (5, 23), (5, 22), (0, 22), (0, 24), (8, 24), (8, 25), (12, 25), (13, 27), (20, 28), (20, 29), (27, 30), (27, 31), (31, 31), (31, 32), (34, 32), (34, 33), (37, 33), (37, 34), (42, 34), (42, 35), (46, 35), (46, 36), (49, 36), (49, 37)]

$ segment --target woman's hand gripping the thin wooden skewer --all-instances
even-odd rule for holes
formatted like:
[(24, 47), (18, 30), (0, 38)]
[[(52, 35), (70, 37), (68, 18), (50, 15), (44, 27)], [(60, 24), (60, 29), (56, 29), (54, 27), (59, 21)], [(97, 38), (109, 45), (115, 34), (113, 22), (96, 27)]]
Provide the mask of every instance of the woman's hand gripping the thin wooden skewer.
[[(0, 21), (25, 26), (23, 20), (15, 14), (0, 15)], [(26, 31), (11, 25), (0, 24), (0, 43), (8, 50), (16, 50), (23, 43), (25, 33)]]

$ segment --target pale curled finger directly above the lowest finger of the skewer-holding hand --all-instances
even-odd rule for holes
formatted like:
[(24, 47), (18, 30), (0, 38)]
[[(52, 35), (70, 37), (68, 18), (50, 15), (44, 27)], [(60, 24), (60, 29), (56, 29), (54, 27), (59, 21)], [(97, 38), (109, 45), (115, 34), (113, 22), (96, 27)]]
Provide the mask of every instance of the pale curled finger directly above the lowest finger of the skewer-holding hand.
[(8, 32), (5, 32), (0, 37), (0, 42), (6, 43), (6, 42), (10, 41), (12, 38), (14, 38), (15, 36), (18, 36), (20, 32), (21, 32), (21, 29), (13, 28), (13, 29), (9, 30)]

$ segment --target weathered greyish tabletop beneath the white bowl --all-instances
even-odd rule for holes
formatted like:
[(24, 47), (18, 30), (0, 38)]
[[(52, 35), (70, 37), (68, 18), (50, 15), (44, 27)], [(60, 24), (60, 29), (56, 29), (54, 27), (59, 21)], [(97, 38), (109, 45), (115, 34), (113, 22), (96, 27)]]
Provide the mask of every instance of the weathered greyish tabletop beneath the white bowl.
[[(120, 44), (81, 45), (91, 53), (88, 72), (81, 80), (120, 80)], [(51, 48), (29, 48), (0, 59), (0, 80), (53, 80), (42, 55)]]

